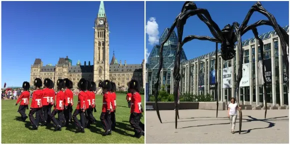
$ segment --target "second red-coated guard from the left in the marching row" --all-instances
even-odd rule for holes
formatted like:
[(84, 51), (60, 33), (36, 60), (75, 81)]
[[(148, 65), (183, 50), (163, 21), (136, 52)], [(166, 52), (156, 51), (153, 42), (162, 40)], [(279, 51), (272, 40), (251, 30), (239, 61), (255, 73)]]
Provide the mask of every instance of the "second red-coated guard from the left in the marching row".
[[(40, 113), (41, 113), (41, 99), (42, 99), (42, 90), (40, 87), (42, 86), (42, 80), (40, 78), (34, 79), (34, 86), (35, 89), (32, 93), (32, 101), (30, 105), (30, 111), (29, 111), (29, 120), (32, 124), (32, 130), (36, 130), (38, 128)], [(33, 114), (35, 113), (35, 118), (33, 117)]]

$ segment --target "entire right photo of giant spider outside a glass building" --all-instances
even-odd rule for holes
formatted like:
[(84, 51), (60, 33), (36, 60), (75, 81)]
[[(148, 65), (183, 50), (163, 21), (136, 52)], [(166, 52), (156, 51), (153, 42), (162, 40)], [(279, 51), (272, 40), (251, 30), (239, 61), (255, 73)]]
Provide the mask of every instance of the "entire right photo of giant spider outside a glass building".
[(289, 1), (145, 5), (145, 143), (289, 143)]

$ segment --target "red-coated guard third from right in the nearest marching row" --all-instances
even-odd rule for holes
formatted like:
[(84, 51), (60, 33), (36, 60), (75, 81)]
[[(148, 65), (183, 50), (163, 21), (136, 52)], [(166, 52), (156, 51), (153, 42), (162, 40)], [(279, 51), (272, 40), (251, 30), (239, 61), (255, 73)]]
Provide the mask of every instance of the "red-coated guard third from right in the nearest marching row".
[[(86, 98), (86, 88), (87, 88), (87, 81), (84, 78), (81, 78), (78, 83), (77, 87), (80, 89), (80, 92), (78, 93), (77, 96), (77, 105), (76, 108), (73, 112), (72, 118), (75, 122), (75, 125), (77, 126), (76, 133), (77, 132), (84, 132), (84, 123), (85, 123), (85, 116), (84, 116), (84, 111), (85, 111), (85, 98)], [(76, 115), (79, 114), (80, 116), (80, 121), (78, 121)]]

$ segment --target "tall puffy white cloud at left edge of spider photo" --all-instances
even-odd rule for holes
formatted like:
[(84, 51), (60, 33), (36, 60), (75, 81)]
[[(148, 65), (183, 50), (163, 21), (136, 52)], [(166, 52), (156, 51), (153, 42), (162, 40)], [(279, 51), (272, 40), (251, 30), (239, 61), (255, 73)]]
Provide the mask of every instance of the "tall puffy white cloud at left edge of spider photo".
[(147, 21), (146, 33), (148, 34), (149, 44), (153, 45), (159, 43), (158, 23), (156, 22), (155, 17), (150, 17)]

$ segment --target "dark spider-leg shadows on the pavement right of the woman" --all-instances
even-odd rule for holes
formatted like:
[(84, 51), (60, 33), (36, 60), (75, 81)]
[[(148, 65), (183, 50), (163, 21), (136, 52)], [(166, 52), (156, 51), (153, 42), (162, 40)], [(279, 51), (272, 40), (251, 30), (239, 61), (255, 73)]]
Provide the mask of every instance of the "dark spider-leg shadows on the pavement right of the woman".
[[(266, 118), (266, 119), (257, 119), (257, 118), (254, 118), (252, 116), (249, 116), (249, 115), (247, 117), (249, 117), (251, 119), (244, 119), (244, 120), (246, 120), (246, 122), (262, 121), (262, 122), (267, 122), (269, 124), (266, 127), (258, 127), (258, 128), (247, 129), (247, 130), (240, 130), (240, 132), (243, 132), (241, 134), (249, 133), (251, 130), (254, 130), (254, 129), (265, 129), (265, 128), (270, 128), (270, 127), (275, 126), (275, 123), (270, 122), (270, 121), (287, 121), (287, 120), (289, 121), (289, 119), (277, 119), (277, 118), (283, 118), (283, 117), (288, 117), (288, 116), (271, 117), (271, 118)], [(234, 132), (238, 132), (238, 131), (234, 131)]]

